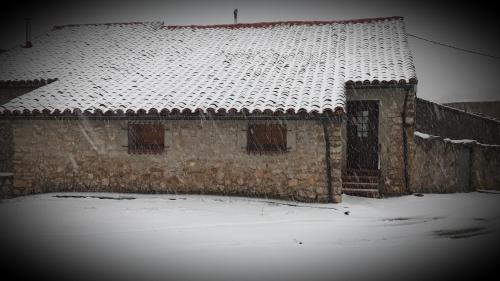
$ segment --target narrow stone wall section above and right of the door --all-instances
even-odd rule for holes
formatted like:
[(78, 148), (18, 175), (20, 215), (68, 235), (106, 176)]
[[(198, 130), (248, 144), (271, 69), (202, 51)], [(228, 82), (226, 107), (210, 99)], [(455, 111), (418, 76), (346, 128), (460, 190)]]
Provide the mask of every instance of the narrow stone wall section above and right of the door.
[[(404, 194), (405, 148), (403, 144), (402, 112), (406, 100), (407, 155), (414, 150), (415, 91), (404, 87), (349, 88), (347, 100), (375, 100), (379, 104), (379, 158), (381, 181), (379, 191), (384, 195)], [(347, 152), (344, 151), (346, 154)], [(411, 163), (407, 161), (408, 169)], [(345, 168), (345, 163), (344, 163)], [(411, 177), (411, 174), (409, 175)], [(408, 179), (409, 181), (410, 179)]]

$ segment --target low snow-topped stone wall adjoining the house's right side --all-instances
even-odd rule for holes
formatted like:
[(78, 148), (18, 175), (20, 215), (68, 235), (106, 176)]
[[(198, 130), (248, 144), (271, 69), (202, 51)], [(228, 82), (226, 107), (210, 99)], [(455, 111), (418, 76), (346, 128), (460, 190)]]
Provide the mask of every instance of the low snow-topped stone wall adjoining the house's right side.
[(425, 135), (415, 135), (414, 143), (410, 157), (412, 192), (500, 190), (500, 145)]

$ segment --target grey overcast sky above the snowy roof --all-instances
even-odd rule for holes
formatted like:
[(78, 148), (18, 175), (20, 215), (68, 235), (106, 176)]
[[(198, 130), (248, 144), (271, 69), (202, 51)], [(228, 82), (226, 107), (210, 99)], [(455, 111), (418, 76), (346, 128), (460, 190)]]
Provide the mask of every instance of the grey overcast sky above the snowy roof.
[[(500, 3), (473, 1), (361, 0), (113, 0), (6, 1), (0, 13), (0, 49), (19, 46), (25, 38), (25, 18), (32, 37), (54, 25), (163, 21), (166, 25), (224, 24), (284, 20), (343, 20), (403, 16), (406, 31), (431, 40), (500, 57), (500, 29), (494, 13)], [(435, 102), (500, 100), (500, 59), (409, 38), (417, 70), (417, 96)]]

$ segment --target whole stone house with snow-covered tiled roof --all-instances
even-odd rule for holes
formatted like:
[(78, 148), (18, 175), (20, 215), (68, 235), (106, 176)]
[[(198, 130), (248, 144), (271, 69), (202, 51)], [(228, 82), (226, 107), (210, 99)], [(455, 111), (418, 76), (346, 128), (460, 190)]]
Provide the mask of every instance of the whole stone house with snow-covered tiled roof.
[(3, 196), (409, 192), (401, 17), (56, 26), (0, 61)]

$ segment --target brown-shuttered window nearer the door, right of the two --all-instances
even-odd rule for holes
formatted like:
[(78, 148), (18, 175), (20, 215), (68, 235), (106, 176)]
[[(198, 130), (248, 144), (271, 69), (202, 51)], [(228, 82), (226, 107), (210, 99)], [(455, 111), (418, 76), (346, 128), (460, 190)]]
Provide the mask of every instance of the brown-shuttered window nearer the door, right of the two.
[(250, 153), (286, 152), (286, 126), (280, 124), (249, 124), (247, 151)]

